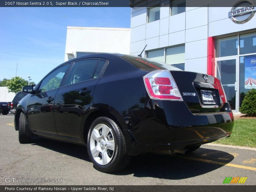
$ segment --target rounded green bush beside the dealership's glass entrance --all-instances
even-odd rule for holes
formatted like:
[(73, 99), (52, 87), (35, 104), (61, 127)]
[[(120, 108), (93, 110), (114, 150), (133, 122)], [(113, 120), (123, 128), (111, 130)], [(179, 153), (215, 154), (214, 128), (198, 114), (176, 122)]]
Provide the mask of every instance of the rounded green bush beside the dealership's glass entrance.
[(248, 116), (256, 116), (256, 89), (245, 94), (240, 111)]

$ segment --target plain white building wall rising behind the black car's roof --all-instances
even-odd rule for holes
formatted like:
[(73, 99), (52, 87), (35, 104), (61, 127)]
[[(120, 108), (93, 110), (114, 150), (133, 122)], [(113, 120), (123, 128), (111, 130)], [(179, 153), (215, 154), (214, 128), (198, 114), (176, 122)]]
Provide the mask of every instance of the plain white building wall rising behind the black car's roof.
[(130, 53), (130, 28), (67, 27), (65, 61), (76, 52)]

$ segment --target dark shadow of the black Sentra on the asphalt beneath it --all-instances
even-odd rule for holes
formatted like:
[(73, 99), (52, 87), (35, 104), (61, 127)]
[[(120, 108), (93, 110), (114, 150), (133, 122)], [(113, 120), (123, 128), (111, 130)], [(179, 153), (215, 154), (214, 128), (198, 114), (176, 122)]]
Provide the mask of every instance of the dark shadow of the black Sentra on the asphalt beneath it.
[[(33, 138), (32, 142), (32, 145), (38, 145), (91, 162), (87, 154), (87, 148), (84, 146), (39, 137)], [(123, 171), (111, 174), (133, 174), (134, 177), (180, 180), (219, 169), (233, 159), (234, 156), (227, 152), (207, 148), (199, 148), (195, 152), (186, 155), (156, 155), (148, 153), (133, 156), (131, 163)]]

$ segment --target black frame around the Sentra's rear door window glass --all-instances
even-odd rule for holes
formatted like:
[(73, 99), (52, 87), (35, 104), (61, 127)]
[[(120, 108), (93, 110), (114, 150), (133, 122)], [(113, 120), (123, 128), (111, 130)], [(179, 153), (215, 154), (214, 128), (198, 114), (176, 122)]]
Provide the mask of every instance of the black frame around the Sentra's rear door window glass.
[(70, 74), (70, 71), (71, 71), (72, 68), (74, 67), (75, 63), (78, 62), (78, 61), (83, 61), (83, 60), (98, 60), (97, 65), (96, 65), (96, 67), (94, 68), (94, 71), (93, 71), (92, 76), (94, 76), (94, 74), (95, 74), (95, 72), (96, 72), (96, 69), (97, 69), (97, 67), (98, 67), (98, 65), (99, 65), (100, 60), (105, 61), (103, 67), (101, 68), (101, 71), (100, 71), (99, 76), (98, 76), (97, 78), (94, 78), (94, 79), (100, 79), (100, 78), (103, 76), (103, 74), (104, 74), (106, 68), (108, 67), (108, 63), (109, 63), (109, 61), (108, 61), (107, 59), (99, 58), (99, 57), (92, 57), (92, 58), (85, 58), (85, 59), (75, 60), (75, 61), (72, 62), (72, 65), (70, 66), (67, 75), (65, 74), (66, 76), (65, 76), (65, 78), (63, 78), (63, 81), (61, 82), (62, 84), (61, 84), (60, 87), (70, 86), (70, 85), (74, 85), (74, 84), (78, 84), (78, 83), (83, 83), (83, 82), (85, 82), (85, 81), (94, 80), (94, 79), (92, 78), (92, 79), (88, 79), (88, 80), (85, 80), (85, 81), (77, 82), (77, 83), (74, 83), (74, 84), (65, 85), (65, 83), (67, 82), (67, 79), (68, 79), (68, 75)]

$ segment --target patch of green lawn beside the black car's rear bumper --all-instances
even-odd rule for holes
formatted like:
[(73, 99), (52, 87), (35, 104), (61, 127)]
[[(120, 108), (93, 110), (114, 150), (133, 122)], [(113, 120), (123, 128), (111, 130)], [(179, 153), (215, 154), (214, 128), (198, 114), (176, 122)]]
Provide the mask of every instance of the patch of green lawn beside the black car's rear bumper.
[(236, 119), (231, 136), (214, 143), (256, 147), (256, 119)]

